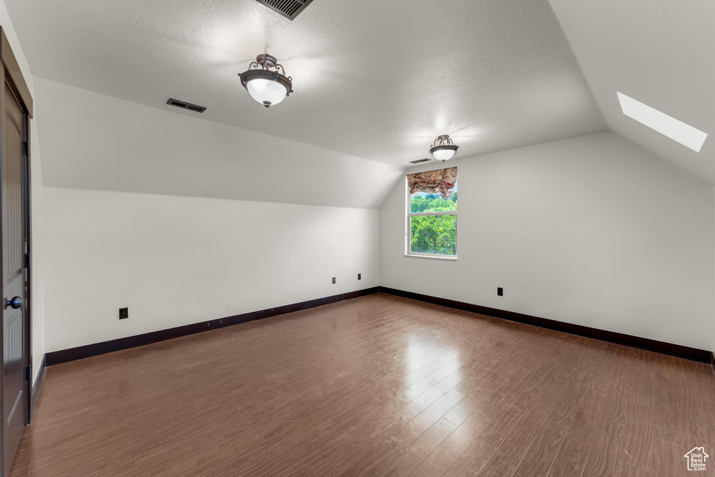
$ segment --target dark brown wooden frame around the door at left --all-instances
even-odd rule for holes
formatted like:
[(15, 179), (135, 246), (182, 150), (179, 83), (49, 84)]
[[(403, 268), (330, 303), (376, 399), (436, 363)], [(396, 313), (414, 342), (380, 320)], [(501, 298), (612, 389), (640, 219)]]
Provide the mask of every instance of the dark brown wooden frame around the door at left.
[[(27, 291), (25, 295), (24, 303), (24, 313), (25, 313), (25, 329), (24, 329), (24, 365), (32, 365), (32, 307), (31, 307), (31, 297), (32, 297), (32, 275), (31, 275), (31, 250), (32, 250), (32, 215), (31, 215), (31, 161), (30, 161), (30, 119), (32, 118), (33, 112), (33, 102), (32, 96), (30, 94), (30, 89), (27, 87), (27, 83), (22, 75), (19, 63), (17, 62), (16, 56), (12, 51), (10, 42), (5, 34), (5, 29), (0, 26), (0, 87), (2, 88), (0, 94), (0, 112), (4, 109), (4, 84), (8, 84), (11, 92), (14, 94), (15, 98), (20, 104), (21, 109), (24, 112), (24, 126), (25, 126), (25, 164), (24, 164), (24, 185), (25, 185), (25, 221), (26, 235), (27, 235), (27, 250), (26, 250), (26, 284)], [(1, 121), (0, 121), (1, 128)], [(0, 131), (0, 142), (1, 142), (1, 131)], [(0, 174), (2, 173), (2, 149), (0, 144)], [(0, 180), (0, 204), (2, 202), (2, 181)], [(0, 207), (1, 210), (1, 207)], [(2, 247), (2, 221), (0, 220), (0, 247)], [(2, 263), (2, 254), (0, 254), (0, 274), (4, 275), (4, 267)], [(3, 277), (4, 280), (4, 277)], [(0, 355), (4, 355), (3, 345), (3, 333), (4, 327), (0, 327)], [(25, 425), (30, 423), (31, 420), (31, 397), (32, 397), (32, 369), (30, 368), (29, 377), (26, 376), (24, 380), (24, 393), (25, 393)], [(4, 396), (3, 390), (3, 380), (0, 379), (0, 395)], [(3, 403), (4, 405), (4, 403)], [(3, 451), (0, 452), (0, 468), (4, 468), (4, 426), (0, 426), (0, 443), (3, 446)]]

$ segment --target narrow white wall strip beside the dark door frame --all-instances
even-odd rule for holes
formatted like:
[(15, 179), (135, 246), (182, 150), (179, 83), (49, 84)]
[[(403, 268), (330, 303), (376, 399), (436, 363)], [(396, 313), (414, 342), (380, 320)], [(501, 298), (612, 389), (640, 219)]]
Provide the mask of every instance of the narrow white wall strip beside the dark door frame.
[(43, 181), (42, 166), (40, 162), (39, 134), (37, 124), (36, 96), (34, 94), (33, 77), (29, 65), (17, 39), (14, 26), (8, 14), (4, 0), (0, 0), (0, 25), (3, 27), (12, 51), (15, 54), (20, 70), (35, 100), (34, 119), (30, 121), (31, 145), (31, 213), (32, 213), (32, 382), (34, 383), (39, 373), (40, 363), (44, 355), (44, 208), (43, 208)]

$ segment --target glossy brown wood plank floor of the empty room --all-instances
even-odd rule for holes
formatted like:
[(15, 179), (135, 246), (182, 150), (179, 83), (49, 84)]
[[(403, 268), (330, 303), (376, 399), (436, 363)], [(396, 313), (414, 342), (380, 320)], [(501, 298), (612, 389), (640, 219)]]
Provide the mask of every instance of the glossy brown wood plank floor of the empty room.
[(388, 295), (48, 368), (11, 476), (715, 475), (709, 365)]

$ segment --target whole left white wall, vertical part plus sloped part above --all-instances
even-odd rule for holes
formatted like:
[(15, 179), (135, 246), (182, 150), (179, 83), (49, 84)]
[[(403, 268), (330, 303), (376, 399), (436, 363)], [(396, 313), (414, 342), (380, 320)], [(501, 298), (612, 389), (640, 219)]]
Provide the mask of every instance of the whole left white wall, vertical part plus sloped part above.
[(46, 79), (35, 87), (47, 350), (379, 285), (378, 207), (401, 169)]

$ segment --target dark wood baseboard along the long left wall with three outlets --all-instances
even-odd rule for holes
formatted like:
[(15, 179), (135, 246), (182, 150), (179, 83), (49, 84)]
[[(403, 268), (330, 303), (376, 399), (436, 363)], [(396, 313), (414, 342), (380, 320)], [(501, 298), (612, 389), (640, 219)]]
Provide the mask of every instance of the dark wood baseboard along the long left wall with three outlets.
[(224, 328), (226, 326), (240, 325), (241, 323), (247, 323), (249, 321), (262, 320), (263, 318), (284, 315), (285, 313), (306, 310), (307, 308), (315, 308), (320, 305), (349, 300), (350, 298), (357, 298), (377, 292), (378, 287), (366, 288), (365, 290), (357, 290), (355, 292), (341, 293), (340, 295), (332, 295), (330, 297), (316, 298), (315, 300), (293, 303), (292, 305), (284, 305), (277, 308), (268, 308), (267, 310), (242, 313), (241, 315), (202, 321), (201, 323), (192, 323), (191, 325), (169, 328), (167, 330), (152, 331), (151, 333), (144, 333), (143, 335), (127, 336), (127, 338), (118, 338), (117, 340), (92, 343), (91, 345), (78, 346), (77, 348), (52, 351), (51, 353), (46, 354), (47, 365), (57, 365), (66, 363), (67, 361), (80, 360), (82, 358), (89, 358), (90, 356), (112, 353), (112, 351), (126, 350), (127, 348), (149, 345), (152, 343), (158, 343), (159, 341), (171, 340), (172, 338), (181, 338), (182, 336), (202, 333), (204, 331)]

